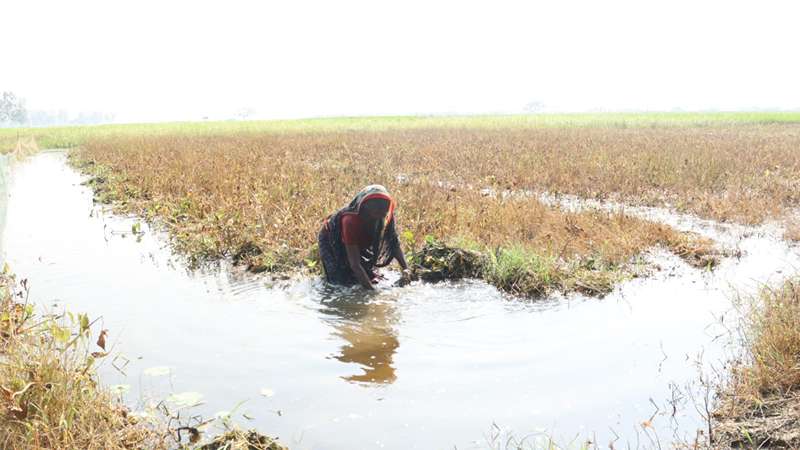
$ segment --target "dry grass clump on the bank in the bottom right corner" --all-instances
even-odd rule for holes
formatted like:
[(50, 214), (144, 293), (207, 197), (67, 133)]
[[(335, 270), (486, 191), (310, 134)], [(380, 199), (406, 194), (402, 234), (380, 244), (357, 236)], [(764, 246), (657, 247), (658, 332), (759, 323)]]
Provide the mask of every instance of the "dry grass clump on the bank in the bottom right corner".
[(741, 448), (800, 447), (800, 278), (764, 288), (746, 311), (745, 356), (716, 411), (717, 440)]

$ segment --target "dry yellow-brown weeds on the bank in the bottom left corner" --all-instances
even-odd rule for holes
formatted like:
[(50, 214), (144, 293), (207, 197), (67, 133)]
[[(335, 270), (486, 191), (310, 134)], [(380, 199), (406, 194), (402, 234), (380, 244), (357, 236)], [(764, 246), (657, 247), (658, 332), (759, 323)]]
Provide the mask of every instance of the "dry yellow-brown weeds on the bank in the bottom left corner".
[(167, 448), (98, 387), (88, 318), (37, 317), (24, 294), (0, 276), (0, 448)]

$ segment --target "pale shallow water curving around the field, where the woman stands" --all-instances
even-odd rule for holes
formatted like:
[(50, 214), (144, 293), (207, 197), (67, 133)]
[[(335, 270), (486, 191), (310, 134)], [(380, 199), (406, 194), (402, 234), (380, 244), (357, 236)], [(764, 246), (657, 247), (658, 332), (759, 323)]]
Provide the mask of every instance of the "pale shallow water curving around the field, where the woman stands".
[(777, 232), (714, 228), (740, 259), (708, 273), (654, 251), (662, 270), (604, 299), (520, 300), (469, 281), (365, 294), (189, 272), (162, 234), (132, 235), (136, 219), (102, 212), (80, 182), (60, 153), (12, 171), (2, 243), (31, 298), (102, 317), (119, 355), (102, 379), (130, 386), (134, 408), (196, 392), (204, 403), (183, 417), (235, 409), (293, 449), (691, 439), (702, 419), (688, 399), (672, 415), (671, 385), (696, 379), (698, 355), (706, 368), (728, 355), (733, 288), (800, 267)]

